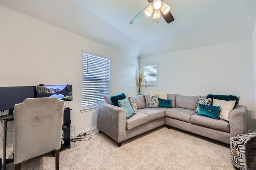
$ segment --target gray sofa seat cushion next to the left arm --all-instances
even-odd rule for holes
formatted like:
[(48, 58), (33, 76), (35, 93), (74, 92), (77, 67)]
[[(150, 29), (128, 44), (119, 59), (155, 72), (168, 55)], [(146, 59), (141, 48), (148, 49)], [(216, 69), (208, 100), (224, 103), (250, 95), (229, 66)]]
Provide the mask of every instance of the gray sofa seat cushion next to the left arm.
[(130, 130), (134, 127), (143, 125), (149, 121), (149, 116), (144, 113), (140, 113), (137, 111), (132, 117), (126, 120), (126, 129)]

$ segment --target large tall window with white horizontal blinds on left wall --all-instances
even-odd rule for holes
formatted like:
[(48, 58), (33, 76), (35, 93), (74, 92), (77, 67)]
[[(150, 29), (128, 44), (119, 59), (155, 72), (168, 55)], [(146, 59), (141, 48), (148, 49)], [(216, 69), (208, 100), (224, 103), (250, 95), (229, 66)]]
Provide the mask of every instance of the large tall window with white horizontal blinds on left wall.
[(83, 51), (82, 108), (96, 108), (110, 94), (110, 59)]

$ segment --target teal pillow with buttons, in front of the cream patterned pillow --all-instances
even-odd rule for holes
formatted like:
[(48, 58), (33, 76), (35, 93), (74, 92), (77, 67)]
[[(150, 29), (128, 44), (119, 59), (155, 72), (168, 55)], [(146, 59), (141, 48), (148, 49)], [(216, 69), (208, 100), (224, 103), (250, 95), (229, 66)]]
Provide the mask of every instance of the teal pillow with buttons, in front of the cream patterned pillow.
[(207, 106), (204, 104), (198, 104), (197, 114), (220, 120), (219, 111), (220, 106)]

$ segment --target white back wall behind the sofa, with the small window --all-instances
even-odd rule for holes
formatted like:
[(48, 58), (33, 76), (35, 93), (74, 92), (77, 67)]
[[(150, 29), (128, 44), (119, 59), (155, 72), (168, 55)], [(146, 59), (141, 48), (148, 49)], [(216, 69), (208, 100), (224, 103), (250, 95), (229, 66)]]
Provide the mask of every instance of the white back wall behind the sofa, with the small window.
[(240, 104), (248, 107), (248, 130), (256, 131), (251, 39), (140, 58), (140, 66), (152, 63), (158, 63), (158, 87), (142, 93), (241, 96)]

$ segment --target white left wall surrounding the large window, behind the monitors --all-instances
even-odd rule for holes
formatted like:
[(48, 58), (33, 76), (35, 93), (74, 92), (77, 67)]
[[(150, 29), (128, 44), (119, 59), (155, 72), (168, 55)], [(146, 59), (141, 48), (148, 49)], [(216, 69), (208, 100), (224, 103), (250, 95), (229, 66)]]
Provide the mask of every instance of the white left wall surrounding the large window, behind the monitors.
[[(97, 111), (82, 108), (82, 50), (110, 58), (110, 95), (136, 95), (138, 58), (1, 6), (0, 86), (72, 84), (75, 131), (97, 125)], [(0, 127), (0, 131), (2, 131)], [(2, 145), (1, 145), (2, 146)]]

